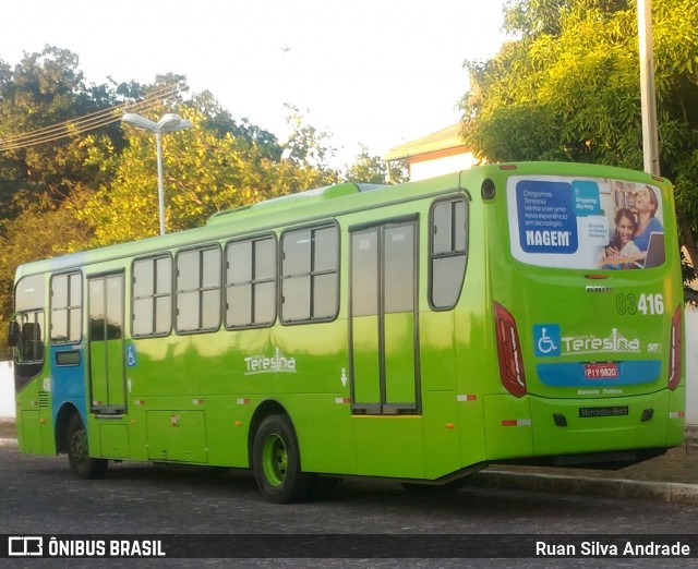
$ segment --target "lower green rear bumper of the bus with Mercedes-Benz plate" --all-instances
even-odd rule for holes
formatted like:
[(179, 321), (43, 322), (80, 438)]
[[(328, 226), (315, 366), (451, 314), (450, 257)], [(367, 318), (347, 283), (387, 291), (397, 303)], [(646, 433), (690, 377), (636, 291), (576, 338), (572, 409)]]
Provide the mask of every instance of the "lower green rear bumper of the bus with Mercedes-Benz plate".
[(488, 396), (484, 407), (488, 460), (666, 449), (684, 441), (684, 387), (593, 400)]

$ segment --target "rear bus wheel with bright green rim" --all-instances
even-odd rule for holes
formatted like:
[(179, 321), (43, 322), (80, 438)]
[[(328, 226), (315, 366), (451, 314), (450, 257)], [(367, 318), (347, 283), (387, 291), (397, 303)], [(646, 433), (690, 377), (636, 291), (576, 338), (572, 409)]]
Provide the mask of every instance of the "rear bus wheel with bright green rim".
[(286, 415), (269, 415), (260, 424), (252, 447), (252, 469), (267, 501), (301, 501), (313, 487), (314, 475), (301, 471), (298, 439)]

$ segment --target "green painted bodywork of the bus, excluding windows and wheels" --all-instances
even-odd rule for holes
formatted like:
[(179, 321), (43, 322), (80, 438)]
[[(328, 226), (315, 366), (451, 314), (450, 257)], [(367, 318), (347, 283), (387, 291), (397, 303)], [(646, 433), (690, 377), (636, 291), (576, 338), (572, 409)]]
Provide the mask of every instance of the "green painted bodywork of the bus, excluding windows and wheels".
[[(527, 175), (661, 187), (665, 263), (652, 270), (611, 271), (517, 261), (507, 183)], [(485, 180), (496, 187), (490, 199), (481, 196)], [(442, 310), (430, 299), (430, 220), (436, 202), (458, 196), (468, 207), (467, 269), (455, 306)], [(95, 457), (246, 468), (258, 413), (273, 409), (290, 417), (308, 472), (437, 480), (489, 461), (683, 441), (685, 372), (679, 386), (667, 389), (672, 316), (683, 306), (673, 207), (669, 182), (641, 172), (492, 165), (387, 189), (362, 192), (344, 184), (256, 204), (216, 215), (203, 228), (24, 265), (16, 280), (45, 274), (48, 283), (51, 274), (80, 268), (86, 298), (87, 279), (123, 276), (123, 338), (87, 342), (83, 310), (85, 373), (74, 380), (84, 387), (86, 401), (85, 409), (75, 405), (86, 413)], [(174, 258), (180, 250), (218, 244), (225, 262), (230, 241), (274, 234), (278, 243), (287, 229), (330, 221), (339, 232), (339, 307), (329, 322), (289, 325), (277, 316), (260, 328), (229, 330), (221, 324), (202, 334), (131, 336), (134, 258), (161, 253)], [(402, 226), (416, 231), (414, 311), (352, 316), (352, 235)], [(603, 278), (589, 279), (589, 274)], [(663, 312), (628, 311), (628, 302), (641, 295), (661, 298)], [(516, 322), (526, 375), (521, 397), (507, 392), (500, 379), (495, 302)], [(46, 318), (48, 325), (48, 310)], [(555, 355), (537, 350), (540, 330), (550, 325), (559, 328), (563, 341)], [(629, 342), (634, 349), (594, 351), (604, 341)], [(642, 367), (647, 377), (598, 388), (559, 380), (559, 370), (571, 377), (588, 364)], [(46, 363), (16, 394), (25, 452), (58, 450), (57, 417), (72, 407), (53, 401), (50, 385)], [(592, 411), (582, 416), (581, 409)], [(557, 424), (559, 416), (566, 426)]]

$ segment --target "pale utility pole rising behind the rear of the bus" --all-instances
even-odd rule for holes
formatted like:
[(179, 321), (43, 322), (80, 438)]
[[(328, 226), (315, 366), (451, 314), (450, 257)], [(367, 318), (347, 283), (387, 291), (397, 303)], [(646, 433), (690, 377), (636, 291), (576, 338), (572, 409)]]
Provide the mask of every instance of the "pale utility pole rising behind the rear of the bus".
[(652, 47), (652, 0), (637, 0), (637, 27), (640, 43), (640, 101), (642, 107), (642, 156), (645, 171), (660, 175), (657, 99), (654, 96), (654, 56)]

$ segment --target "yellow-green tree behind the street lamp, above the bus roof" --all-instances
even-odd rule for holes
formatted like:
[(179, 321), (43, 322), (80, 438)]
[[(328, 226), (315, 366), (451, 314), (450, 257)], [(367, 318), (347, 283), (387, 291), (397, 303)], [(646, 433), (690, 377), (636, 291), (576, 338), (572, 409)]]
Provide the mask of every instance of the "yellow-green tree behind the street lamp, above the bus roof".
[[(177, 111), (193, 126), (163, 136), (168, 232), (202, 226), (210, 215), (225, 209), (337, 179), (337, 173), (322, 162), (317, 167), (305, 161), (311, 156), (324, 159), (327, 155), (317, 147), (324, 138), (301, 122), (294, 123), (298, 129), (287, 146), (289, 157), (277, 158), (275, 137), (250, 123), (233, 123), (212, 99), (207, 98), (206, 105), (202, 99), (183, 104)], [(153, 118), (163, 112), (165, 109), (155, 110)], [(124, 135), (128, 146), (117, 157), (113, 181), (101, 185), (79, 214), (94, 228), (93, 246), (157, 234), (155, 141), (153, 135), (134, 129), (125, 130)]]

